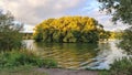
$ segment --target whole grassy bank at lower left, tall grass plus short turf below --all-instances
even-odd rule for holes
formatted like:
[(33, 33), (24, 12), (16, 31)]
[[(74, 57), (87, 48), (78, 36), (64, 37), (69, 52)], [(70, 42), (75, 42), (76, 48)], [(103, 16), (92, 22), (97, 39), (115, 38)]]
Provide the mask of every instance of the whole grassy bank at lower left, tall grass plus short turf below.
[(44, 75), (43, 72), (40, 74), (34, 71), (34, 67), (54, 68), (57, 67), (57, 62), (52, 58), (43, 58), (28, 50), (0, 53), (0, 75)]

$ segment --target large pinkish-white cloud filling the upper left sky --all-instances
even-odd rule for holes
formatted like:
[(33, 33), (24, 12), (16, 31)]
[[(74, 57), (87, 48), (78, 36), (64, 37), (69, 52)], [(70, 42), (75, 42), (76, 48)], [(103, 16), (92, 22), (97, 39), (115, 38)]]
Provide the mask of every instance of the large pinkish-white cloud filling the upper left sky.
[(65, 15), (85, 0), (0, 0), (3, 9), (10, 10), (16, 20), (36, 24), (47, 18)]

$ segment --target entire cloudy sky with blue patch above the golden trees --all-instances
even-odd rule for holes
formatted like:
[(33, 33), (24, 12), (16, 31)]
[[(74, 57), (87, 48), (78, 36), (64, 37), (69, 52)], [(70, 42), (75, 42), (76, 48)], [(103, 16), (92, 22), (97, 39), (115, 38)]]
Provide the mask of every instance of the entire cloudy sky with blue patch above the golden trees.
[(0, 9), (11, 11), (15, 20), (23, 22), (25, 32), (32, 32), (34, 25), (45, 19), (64, 15), (95, 18), (109, 31), (127, 28), (120, 22), (114, 25), (110, 15), (99, 12), (99, 3), (96, 0), (0, 0)]

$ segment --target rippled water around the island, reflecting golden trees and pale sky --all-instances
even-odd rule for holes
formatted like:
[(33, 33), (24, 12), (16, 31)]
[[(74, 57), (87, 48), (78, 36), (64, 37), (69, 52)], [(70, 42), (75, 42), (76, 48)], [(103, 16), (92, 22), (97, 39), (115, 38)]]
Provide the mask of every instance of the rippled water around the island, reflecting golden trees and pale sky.
[(37, 52), (43, 57), (52, 57), (59, 67), (84, 69), (109, 69), (114, 60), (125, 56), (122, 50), (116, 46), (118, 41), (99, 44), (87, 43), (35, 43), (24, 40), (28, 49)]

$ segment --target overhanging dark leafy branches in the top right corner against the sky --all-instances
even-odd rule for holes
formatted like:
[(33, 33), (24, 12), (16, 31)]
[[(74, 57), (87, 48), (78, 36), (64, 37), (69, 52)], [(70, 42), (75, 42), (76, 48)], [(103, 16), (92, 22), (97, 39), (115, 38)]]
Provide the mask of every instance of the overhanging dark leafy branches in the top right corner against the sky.
[(101, 10), (107, 10), (112, 14), (112, 21), (122, 21), (132, 24), (132, 0), (98, 0), (101, 3)]

